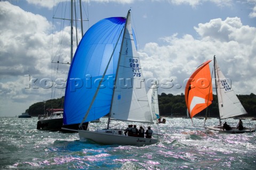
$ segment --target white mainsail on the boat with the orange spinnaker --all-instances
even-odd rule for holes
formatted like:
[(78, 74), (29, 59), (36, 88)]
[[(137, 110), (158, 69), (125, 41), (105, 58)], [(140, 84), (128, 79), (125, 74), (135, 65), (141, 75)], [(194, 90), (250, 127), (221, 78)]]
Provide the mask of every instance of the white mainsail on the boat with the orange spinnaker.
[(214, 62), (220, 119), (246, 114), (244, 107), (229, 85), (228, 80), (222, 74), (215, 58)]

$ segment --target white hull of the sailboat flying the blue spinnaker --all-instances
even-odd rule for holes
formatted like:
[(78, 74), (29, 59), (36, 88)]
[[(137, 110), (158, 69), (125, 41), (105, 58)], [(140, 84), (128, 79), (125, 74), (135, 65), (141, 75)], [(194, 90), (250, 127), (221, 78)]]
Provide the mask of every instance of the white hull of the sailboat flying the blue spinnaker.
[(157, 139), (133, 137), (123, 135), (118, 129), (103, 129), (98, 131), (78, 130), (80, 140), (89, 139), (99, 144), (121, 144), (121, 145), (148, 145), (158, 142)]

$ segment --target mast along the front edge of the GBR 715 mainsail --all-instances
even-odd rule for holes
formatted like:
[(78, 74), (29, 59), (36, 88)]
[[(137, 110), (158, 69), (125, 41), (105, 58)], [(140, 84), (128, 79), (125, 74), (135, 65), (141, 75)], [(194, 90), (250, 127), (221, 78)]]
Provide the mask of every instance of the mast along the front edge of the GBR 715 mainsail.
[[(117, 68), (116, 68), (116, 77), (117, 77), (117, 74), (118, 74), (120, 58), (121, 58), (122, 50), (123, 50), (122, 47), (123, 47), (123, 44), (124, 44), (124, 38), (125, 38), (125, 33), (126, 33), (126, 26), (127, 26), (128, 17), (130, 16), (130, 12), (131, 12), (131, 10), (129, 10), (128, 13), (127, 13), (126, 21), (125, 21), (125, 25), (124, 25), (124, 33), (123, 33), (123, 38), (122, 38), (122, 43), (121, 43), (121, 50), (119, 52), (118, 63), (117, 63)], [(115, 78), (115, 82), (114, 82), (114, 87), (115, 86), (116, 86), (116, 78)], [(107, 129), (109, 128), (109, 124), (110, 124), (110, 113), (111, 113), (111, 110), (112, 110), (112, 103), (113, 103), (113, 99), (114, 99), (114, 93), (115, 93), (115, 88), (114, 88), (114, 92), (113, 92), (112, 99), (111, 99), (111, 104), (110, 104), (110, 111), (109, 111)]]

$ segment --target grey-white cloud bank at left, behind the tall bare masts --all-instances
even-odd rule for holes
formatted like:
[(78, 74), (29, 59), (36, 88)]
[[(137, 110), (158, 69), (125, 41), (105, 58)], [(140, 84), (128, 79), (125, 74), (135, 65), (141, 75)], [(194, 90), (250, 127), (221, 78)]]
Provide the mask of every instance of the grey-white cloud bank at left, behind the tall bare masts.
[[(59, 67), (59, 77), (67, 77), (69, 65), (52, 64), (51, 60), (55, 56), (55, 61), (70, 62), (70, 28), (52, 34), (52, 23), (46, 18), (9, 2), (0, 2), (0, 20), (0, 103), (50, 99), (51, 89), (47, 85), (36, 87), (44, 85), (42, 79), (48, 80), (46, 84), (55, 80), (52, 67)], [(25, 75), (30, 75), (30, 79)], [(27, 88), (33, 78), (37, 80)]]

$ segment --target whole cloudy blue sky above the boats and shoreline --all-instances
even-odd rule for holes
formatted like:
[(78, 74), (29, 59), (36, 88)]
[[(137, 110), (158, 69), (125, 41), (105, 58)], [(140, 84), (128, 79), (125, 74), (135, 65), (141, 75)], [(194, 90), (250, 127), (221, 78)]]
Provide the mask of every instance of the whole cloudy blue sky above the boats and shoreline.
[[(256, 94), (256, 0), (87, 0), (84, 33), (129, 9), (146, 85), (157, 79), (158, 94), (185, 93), (214, 55), (236, 94)], [(53, 17), (69, 19), (69, 1), (0, 1), (0, 116), (65, 95), (70, 65), (52, 61), (70, 62), (70, 22)]]

